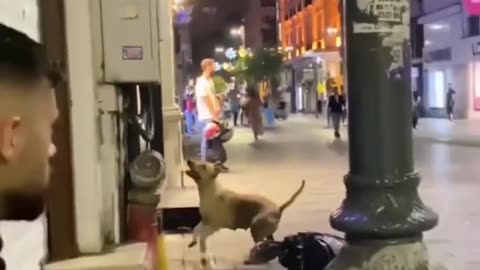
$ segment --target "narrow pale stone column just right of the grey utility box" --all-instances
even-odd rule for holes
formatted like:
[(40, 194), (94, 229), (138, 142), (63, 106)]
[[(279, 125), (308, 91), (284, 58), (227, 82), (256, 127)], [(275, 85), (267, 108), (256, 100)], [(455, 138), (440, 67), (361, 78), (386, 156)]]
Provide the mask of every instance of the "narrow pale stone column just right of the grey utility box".
[(180, 187), (182, 177), (182, 112), (175, 102), (175, 48), (172, 0), (158, 1), (160, 32), (160, 84), (162, 88), (164, 158), (166, 187)]

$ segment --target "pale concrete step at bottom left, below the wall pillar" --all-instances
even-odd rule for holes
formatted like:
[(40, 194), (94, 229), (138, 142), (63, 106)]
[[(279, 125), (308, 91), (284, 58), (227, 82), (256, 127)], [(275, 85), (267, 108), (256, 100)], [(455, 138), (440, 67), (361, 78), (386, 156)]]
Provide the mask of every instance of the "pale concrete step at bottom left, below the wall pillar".
[(45, 265), (44, 270), (147, 270), (147, 245), (120, 246), (101, 255), (82, 256)]

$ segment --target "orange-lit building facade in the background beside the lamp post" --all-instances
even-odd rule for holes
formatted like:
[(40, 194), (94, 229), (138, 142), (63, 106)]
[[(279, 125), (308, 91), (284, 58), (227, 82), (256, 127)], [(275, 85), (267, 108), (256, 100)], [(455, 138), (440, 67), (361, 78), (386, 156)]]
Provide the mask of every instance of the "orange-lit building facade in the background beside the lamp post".
[[(287, 52), (284, 87), (292, 111), (314, 112), (324, 93), (318, 85), (335, 81), (341, 89), (341, 16), (339, 0), (279, 0), (279, 39)], [(320, 95), (319, 95), (320, 94)]]

